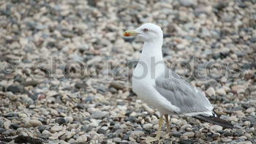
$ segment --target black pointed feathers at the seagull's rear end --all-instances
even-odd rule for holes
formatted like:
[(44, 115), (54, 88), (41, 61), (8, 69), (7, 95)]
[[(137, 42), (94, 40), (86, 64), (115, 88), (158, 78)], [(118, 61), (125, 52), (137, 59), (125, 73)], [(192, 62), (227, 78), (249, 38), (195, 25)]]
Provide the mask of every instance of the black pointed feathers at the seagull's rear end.
[(233, 126), (233, 124), (231, 124), (229, 121), (225, 121), (224, 119), (219, 118), (219, 117), (205, 116), (205, 115), (195, 115), (195, 116), (193, 116), (193, 118), (197, 118), (200, 121), (206, 121), (206, 122), (211, 123), (211, 124), (217, 124), (217, 125), (222, 126), (224, 128), (230, 128), (230, 129), (235, 128)]

